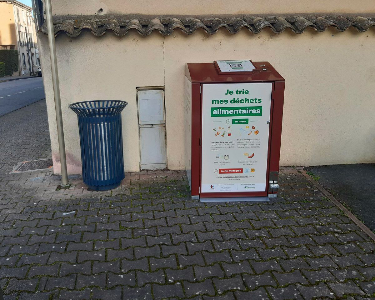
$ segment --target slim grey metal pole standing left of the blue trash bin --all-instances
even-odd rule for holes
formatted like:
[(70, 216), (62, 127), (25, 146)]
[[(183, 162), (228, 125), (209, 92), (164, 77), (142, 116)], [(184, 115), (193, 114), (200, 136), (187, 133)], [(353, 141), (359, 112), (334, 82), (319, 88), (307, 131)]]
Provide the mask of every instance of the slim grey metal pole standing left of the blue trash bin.
[(46, 12), (46, 21), (47, 21), (49, 55), (51, 57), (53, 95), (55, 98), (58, 149), (60, 151), (60, 165), (61, 165), (61, 177), (62, 177), (61, 186), (66, 187), (66, 186), (69, 186), (69, 183), (68, 183), (68, 171), (66, 169), (64, 128), (63, 128), (63, 117), (61, 113), (60, 86), (58, 83), (55, 33), (53, 29), (51, 0), (45, 0), (45, 5), (46, 5), (45, 12)]

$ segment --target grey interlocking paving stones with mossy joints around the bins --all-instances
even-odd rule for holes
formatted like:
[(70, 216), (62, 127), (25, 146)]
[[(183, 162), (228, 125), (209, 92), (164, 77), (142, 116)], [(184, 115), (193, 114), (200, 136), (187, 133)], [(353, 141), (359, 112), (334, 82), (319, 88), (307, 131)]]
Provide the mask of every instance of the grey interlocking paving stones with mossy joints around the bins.
[(4, 164), (48, 155), (45, 118), (26, 132), (17, 112), (0, 118), (9, 122), (0, 133), (5, 299), (375, 296), (375, 243), (297, 170), (281, 170), (280, 196), (262, 203), (193, 201), (183, 171), (129, 173), (110, 192), (72, 176), (56, 190), (48, 172), (6, 174)]

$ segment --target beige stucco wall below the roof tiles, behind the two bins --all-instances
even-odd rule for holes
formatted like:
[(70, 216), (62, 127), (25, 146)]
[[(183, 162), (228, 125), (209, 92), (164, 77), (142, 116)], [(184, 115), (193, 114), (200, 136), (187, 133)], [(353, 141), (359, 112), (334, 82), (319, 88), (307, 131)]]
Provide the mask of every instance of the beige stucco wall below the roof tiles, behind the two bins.
[[(47, 38), (39, 39), (52, 155), (58, 161)], [(123, 111), (126, 171), (139, 170), (136, 87), (165, 86), (169, 169), (184, 168), (184, 64), (221, 59), (269, 61), (285, 78), (281, 165), (375, 162), (375, 32), (327, 30), (236, 35), (201, 30), (148, 37), (89, 32), (56, 38), (68, 169), (81, 172), (76, 115), (68, 104), (98, 99), (129, 102)], [(58, 164), (54, 164), (59, 172)]]

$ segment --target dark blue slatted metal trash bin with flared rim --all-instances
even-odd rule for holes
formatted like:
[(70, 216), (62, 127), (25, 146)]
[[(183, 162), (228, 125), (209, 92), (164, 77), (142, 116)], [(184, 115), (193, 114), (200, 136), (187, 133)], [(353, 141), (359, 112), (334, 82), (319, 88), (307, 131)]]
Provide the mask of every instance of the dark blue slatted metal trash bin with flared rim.
[(127, 102), (84, 101), (69, 105), (78, 115), (83, 182), (109, 190), (124, 179), (121, 111)]

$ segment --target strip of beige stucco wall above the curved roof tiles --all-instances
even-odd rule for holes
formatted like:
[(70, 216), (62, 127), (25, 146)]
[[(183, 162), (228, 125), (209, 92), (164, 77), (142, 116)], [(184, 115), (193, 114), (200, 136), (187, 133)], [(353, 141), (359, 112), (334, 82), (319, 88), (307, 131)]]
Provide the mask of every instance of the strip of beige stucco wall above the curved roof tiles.
[(242, 14), (242, 13), (301, 13), (301, 12), (375, 12), (373, 0), (54, 0), (57, 15), (92, 15), (102, 13), (158, 14)]

